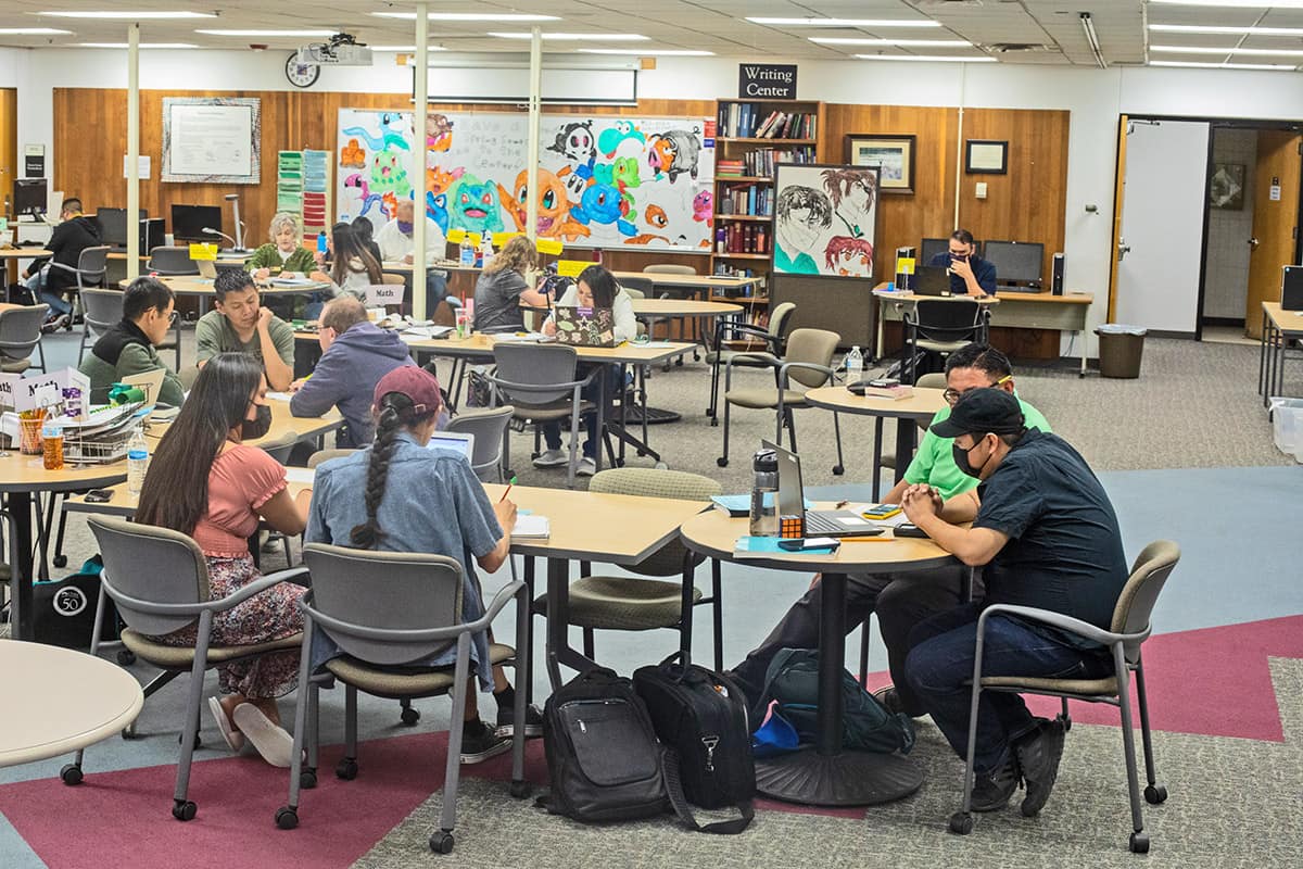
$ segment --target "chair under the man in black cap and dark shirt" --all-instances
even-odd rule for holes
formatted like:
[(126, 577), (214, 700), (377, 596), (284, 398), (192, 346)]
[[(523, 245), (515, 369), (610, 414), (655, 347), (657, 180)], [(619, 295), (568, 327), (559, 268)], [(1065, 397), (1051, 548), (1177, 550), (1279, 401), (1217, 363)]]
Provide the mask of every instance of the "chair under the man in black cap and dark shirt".
[[(1045, 694), (1063, 700), (1063, 724), (1071, 727), (1067, 715), (1067, 701), (1080, 700), (1089, 704), (1109, 704), (1122, 713), (1122, 752), (1127, 765), (1127, 788), (1131, 797), (1131, 851), (1147, 853), (1149, 835), (1144, 831), (1144, 816), (1140, 808), (1140, 783), (1136, 774), (1135, 732), (1131, 726), (1131, 672), (1136, 675), (1136, 705), (1140, 709), (1140, 739), (1144, 747), (1144, 767), (1148, 784), (1144, 799), (1158, 805), (1167, 799), (1167, 788), (1158, 784), (1153, 769), (1153, 740), (1149, 736), (1149, 704), (1144, 691), (1144, 666), (1140, 661), (1140, 645), (1149, 637), (1153, 627), (1149, 623), (1158, 593), (1181, 560), (1181, 547), (1171, 541), (1154, 541), (1144, 547), (1131, 565), (1131, 576), (1118, 595), (1113, 608), (1113, 623), (1109, 631), (1087, 624), (1079, 619), (1038, 610), (1036, 607), (995, 603), (982, 610), (977, 619), (977, 649), (973, 666), (972, 706), (968, 717), (968, 765), (964, 770), (963, 808), (950, 817), (950, 831), (968, 834), (973, 827), (972, 788), (973, 752), (977, 741), (977, 701), (984, 691), (1006, 691), (1016, 694)], [(1058, 631), (1092, 640), (1109, 649), (1113, 655), (1113, 675), (1104, 679), (1040, 679), (1023, 676), (982, 676), (982, 638), (986, 620), (995, 614), (1009, 614), (1023, 621), (1049, 625)]]

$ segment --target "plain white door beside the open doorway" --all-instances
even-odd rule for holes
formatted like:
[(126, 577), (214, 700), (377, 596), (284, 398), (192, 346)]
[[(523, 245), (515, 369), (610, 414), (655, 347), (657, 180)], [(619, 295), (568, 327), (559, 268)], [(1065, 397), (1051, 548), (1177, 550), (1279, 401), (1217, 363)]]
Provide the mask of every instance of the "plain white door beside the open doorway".
[(1204, 121), (1130, 121), (1114, 321), (1194, 335), (1208, 135)]

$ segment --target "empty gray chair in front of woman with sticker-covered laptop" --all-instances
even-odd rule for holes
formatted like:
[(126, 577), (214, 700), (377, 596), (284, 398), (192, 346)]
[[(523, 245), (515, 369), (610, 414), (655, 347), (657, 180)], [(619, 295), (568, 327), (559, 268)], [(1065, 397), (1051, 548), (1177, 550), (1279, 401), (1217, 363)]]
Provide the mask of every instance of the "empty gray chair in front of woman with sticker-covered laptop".
[[(599, 369), (593, 367), (588, 377), (580, 379), (576, 374), (579, 354), (573, 347), (556, 344), (496, 344), (493, 348), (496, 371), (489, 375), (495, 400), (503, 396), (515, 405), (515, 418), (532, 422), (534, 448), (538, 448), (538, 423), (569, 421), (569, 468), (566, 485), (575, 487), (575, 468), (579, 459), (579, 421), (584, 413), (593, 413), (595, 406), (584, 401), (580, 392), (594, 378)], [(601, 433), (599, 433), (601, 434)]]

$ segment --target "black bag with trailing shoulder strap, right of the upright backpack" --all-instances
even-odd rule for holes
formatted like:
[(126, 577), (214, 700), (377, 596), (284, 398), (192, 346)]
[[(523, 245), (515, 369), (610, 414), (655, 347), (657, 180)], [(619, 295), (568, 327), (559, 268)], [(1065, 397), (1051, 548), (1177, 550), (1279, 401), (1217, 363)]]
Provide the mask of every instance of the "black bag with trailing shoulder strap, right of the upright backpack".
[[(670, 804), (688, 827), (734, 835), (754, 817), (756, 765), (751, 753), (747, 698), (726, 676), (692, 663), (679, 653), (658, 666), (633, 672), (633, 688), (646, 702), (665, 747)], [(704, 809), (736, 808), (741, 817), (698, 825), (688, 803)]]

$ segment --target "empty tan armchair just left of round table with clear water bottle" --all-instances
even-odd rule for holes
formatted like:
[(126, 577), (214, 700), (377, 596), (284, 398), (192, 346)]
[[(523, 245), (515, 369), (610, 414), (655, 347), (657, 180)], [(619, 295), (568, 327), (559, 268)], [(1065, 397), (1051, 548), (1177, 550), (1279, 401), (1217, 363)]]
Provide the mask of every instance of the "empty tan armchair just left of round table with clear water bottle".
[[(744, 365), (743, 360), (748, 353), (737, 353), (728, 360), (724, 366), (724, 451), (717, 460), (721, 468), (728, 465), (728, 421), (734, 405), (739, 408), (753, 408), (757, 410), (775, 412), (774, 443), (783, 444), (783, 429), (791, 438), (791, 449), (796, 452), (796, 421), (792, 412), (809, 406), (805, 404), (804, 391), (794, 390), (792, 380), (797, 386), (812, 390), (833, 383), (837, 373), (833, 370), (833, 353), (842, 336), (822, 328), (799, 328), (787, 339), (783, 356), (774, 367), (774, 386), (771, 387), (732, 387), (734, 367)], [(764, 360), (762, 356), (757, 358)], [(837, 435), (837, 464), (833, 466), (834, 474), (844, 470), (842, 463), (842, 425), (838, 416), (833, 413), (833, 430)]]

